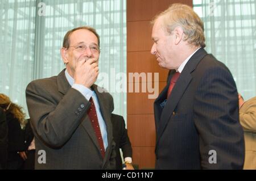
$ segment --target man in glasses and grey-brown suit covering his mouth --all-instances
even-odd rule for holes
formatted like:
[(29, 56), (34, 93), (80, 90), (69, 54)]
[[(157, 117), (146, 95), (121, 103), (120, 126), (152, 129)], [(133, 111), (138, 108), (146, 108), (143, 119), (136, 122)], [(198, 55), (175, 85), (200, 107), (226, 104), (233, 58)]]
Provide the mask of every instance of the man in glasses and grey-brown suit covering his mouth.
[(75, 28), (60, 52), (66, 69), (26, 89), (35, 169), (114, 169), (113, 98), (94, 85), (100, 37), (94, 28)]

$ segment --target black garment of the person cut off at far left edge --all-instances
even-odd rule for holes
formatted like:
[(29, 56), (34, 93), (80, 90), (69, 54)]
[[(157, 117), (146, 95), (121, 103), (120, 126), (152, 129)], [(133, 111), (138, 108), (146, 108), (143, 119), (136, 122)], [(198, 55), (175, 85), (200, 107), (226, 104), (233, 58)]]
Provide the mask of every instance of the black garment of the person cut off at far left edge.
[(6, 115), (3, 109), (0, 107), (0, 169), (6, 169), (7, 141), (8, 127), (6, 123)]

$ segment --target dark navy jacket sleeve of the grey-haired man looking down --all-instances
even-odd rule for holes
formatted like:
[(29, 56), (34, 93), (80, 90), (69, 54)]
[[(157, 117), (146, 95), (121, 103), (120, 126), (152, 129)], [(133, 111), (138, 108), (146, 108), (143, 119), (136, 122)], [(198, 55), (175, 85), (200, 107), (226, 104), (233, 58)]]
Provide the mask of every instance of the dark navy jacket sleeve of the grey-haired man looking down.
[(205, 71), (193, 108), (200, 138), (201, 168), (242, 169), (245, 149), (238, 117), (238, 93), (228, 69), (214, 67)]

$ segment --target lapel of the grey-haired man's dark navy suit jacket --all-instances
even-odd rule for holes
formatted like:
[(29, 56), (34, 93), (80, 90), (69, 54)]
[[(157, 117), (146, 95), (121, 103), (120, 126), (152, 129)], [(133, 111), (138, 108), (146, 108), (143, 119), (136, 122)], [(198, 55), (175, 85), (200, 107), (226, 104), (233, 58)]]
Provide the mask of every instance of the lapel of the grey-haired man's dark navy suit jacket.
[[(192, 80), (192, 75), (191, 75), (192, 71), (196, 69), (197, 64), (199, 64), (199, 62), (206, 55), (207, 55), (207, 52), (203, 48), (200, 48), (199, 50), (197, 50), (197, 52), (193, 54), (193, 56), (189, 59), (183, 71), (181, 72), (180, 77), (177, 79), (174, 89), (172, 89), (171, 95), (168, 98), (166, 105), (163, 108), (162, 115), (160, 116), (158, 134), (156, 138), (157, 143), (164, 129), (166, 128), (172, 113), (174, 112), (177, 104), (179, 103), (179, 100), (181, 99), (182, 95), (187, 89), (189, 82), (191, 82)], [(166, 88), (162, 92), (164, 94), (161, 93), (159, 95), (159, 97), (162, 96), (162, 98), (159, 98), (159, 99), (163, 99), (163, 96), (165, 97), (167, 96), (167, 90), (168, 90), (168, 86), (166, 86)]]

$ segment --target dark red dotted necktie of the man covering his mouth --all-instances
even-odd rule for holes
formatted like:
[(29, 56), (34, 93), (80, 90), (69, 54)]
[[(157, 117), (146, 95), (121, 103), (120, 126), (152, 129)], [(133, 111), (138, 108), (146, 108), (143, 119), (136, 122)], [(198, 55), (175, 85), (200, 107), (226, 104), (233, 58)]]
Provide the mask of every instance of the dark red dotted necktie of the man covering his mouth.
[(105, 149), (104, 149), (104, 144), (103, 144), (103, 140), (102, 140), (102, 136), (101, 136), (100, 124), (98, 124), (98, 117), (97, 117), (95, 104), (94, 104), (92, 98), (90, 98), (89, 101), (91, 103), (91, 106), (87, 113), (88, 113), (88, 116), (90, 117), (90, 123), (92, 123), (94, 132), (96, 134), (96, 138), (98, 140), (98, 144), (100, 145), (101, 155), (104, 158), (105, 157)]

